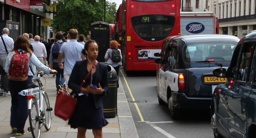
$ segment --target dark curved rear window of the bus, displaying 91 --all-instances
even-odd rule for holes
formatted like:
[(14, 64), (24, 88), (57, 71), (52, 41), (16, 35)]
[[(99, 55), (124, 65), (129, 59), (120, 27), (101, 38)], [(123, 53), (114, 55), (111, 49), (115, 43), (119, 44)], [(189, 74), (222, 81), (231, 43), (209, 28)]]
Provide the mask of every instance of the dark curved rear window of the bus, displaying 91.
[(144, 40), (159, 41), (167, 37), (173, 29), (175, 17), (166, 15), (142, 15), (131, 18), (136, 34)]

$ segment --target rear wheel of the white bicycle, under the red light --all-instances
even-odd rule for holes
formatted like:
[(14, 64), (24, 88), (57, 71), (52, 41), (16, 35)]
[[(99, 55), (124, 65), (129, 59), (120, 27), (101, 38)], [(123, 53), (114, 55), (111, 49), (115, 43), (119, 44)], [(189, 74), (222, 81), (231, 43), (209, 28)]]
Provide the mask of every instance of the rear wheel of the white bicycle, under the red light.
[(31, 108), (28, 109), (29, 124), (33, 138), (40, 137), (40, 123), (39, 123), (39, 113), (37, 101), (31, 99)]

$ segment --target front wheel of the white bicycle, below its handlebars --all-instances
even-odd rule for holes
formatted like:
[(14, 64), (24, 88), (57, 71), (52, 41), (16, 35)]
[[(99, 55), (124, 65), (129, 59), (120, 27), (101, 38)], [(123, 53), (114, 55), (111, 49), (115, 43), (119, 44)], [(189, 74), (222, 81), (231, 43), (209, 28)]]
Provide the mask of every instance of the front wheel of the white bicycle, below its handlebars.
[(48, 99), (48, 96), (47, 96), (47, 93), (44, 91), (42, 92), (42, 95), (43, 95), (43, 108), (44, 108), (44, 113), (45, 113), (45, 116), (44, 116), (44, 126), (45, 126), (45, 129), (48, 131), (50, 130), (51, 128), (51, 111), (47, 111), (46, 109), (47, 108), (50, 108), (50, 103), (49, 103), (49, 99)]

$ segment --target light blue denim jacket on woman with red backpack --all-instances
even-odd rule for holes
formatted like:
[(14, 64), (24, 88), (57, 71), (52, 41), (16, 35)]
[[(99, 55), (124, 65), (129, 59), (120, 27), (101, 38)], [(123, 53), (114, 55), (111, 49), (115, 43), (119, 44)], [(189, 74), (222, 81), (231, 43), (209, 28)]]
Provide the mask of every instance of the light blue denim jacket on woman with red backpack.
[[(21, 49), (18, 49), (18, 51), (20, 51)], [(24, 52), (24, 50), (22, 50)], [(11, 59), (14, 55), (15, 51), (12, 51), (8, 54), (7, 58), (6, 58), (6, 62), (5, 62), (5, 72), (8, 74), (9, 72), (9, 67), (10, 67), (10, 62), (11, 62)], [(29, 57), (29, 62), (28, 62), (28, 76), (34, 76), (33, 73), (31, 72), (30, 70), (30, 67), (29, 65), (31, 65), (32, 67), (32, 70), (33, 70), (33, 65), (34, 64), (37, 68), (39, 68), (40, 70), (44, 71), (47, 76), (49, 76), (50, 74), (50, 68), (45, 66), (40, 60), (38, 60), (38, 58), (35, 56), (34, 53), (32, 53), (31, 57), (30, 57), (30, 53), (28, 52), (27, 53), (28, 57)], [(33, 71), (34, 72), (34, 71)], [(34, 72), (34, 74), (36, 75), (36, 73)]]

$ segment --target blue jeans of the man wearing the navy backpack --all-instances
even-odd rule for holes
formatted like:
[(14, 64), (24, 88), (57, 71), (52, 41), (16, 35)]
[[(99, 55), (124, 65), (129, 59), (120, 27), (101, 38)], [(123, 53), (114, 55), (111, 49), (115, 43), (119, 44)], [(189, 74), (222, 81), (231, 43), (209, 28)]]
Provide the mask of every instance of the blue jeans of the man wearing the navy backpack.
[[(64, 62), (62, 62), (62, 64), (64, 65)], [(52, 62), (52, 68), (57, 71), (56, 80), (55, 80), (55, 84), (57, 88), (58, 85), (63, 85), (65, 82), (65, 78), (63, 75), (64, 69), (60, 69), (58, 62)]]

